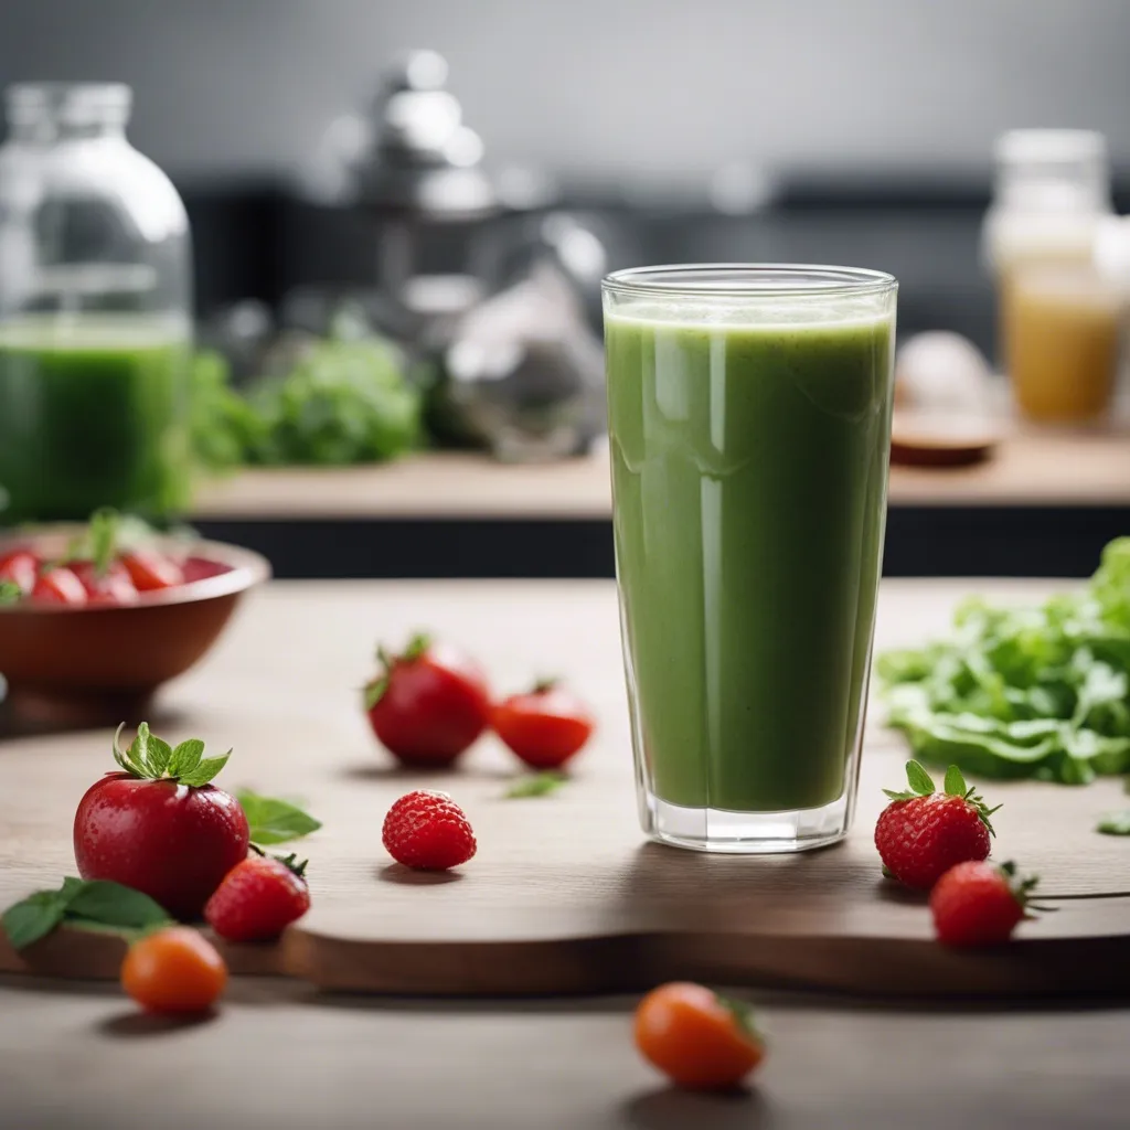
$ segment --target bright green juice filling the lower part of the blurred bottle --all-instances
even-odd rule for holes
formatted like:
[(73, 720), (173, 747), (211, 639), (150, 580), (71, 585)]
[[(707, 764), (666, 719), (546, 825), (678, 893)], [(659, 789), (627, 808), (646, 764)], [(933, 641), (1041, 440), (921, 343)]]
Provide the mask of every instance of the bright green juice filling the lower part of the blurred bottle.
[(0, 327), (0, 522), (182, 506), (188, 363), (186, 334), (167, 323)]

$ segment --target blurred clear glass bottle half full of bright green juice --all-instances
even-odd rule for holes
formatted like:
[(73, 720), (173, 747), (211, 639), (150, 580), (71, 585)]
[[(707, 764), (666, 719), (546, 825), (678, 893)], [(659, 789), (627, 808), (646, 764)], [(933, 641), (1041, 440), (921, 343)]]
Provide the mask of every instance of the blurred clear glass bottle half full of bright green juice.
[(0, 523), (186, 502), (191, 249), (118, 84), (8, 89), (0, 147)]

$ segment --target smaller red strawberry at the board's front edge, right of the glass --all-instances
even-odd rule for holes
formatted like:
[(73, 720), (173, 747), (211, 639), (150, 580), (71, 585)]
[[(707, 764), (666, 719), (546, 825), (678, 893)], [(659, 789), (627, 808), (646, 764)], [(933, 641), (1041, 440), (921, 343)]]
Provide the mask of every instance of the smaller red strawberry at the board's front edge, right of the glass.
[[(930, 893), (938, 940), (948, 946), (993, 946), (1008, 941), (1016, 923), (1031, 918), (1028, 897), (1036, 879), (1018, 879), (1014, 863), (980, 861), (950, 868)], [(1046, 910), (1046, 907), (1032, 907)]]

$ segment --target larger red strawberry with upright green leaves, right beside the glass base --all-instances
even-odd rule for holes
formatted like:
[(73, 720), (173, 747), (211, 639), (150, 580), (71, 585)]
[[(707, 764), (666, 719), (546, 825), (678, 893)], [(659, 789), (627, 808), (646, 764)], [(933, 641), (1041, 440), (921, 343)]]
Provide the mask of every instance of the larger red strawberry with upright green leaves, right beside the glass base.
[[(956, 863), (985, 859), (993, 835), (986, 808), (973, 789), (966, 789), (962, 771), (946, 771), (946, 791), (918, 762), (906, 763), (907, 792), (884, 792), (892, 799), (875, 826), (886, 872), (909, 887), (928, 889)], [(998, 805), (997, 808), (1000, 806)]]

